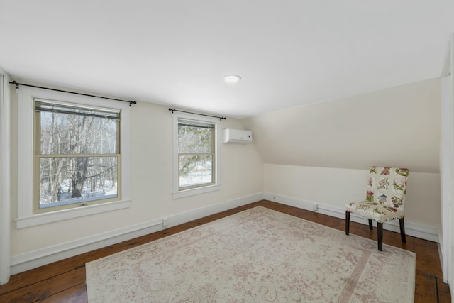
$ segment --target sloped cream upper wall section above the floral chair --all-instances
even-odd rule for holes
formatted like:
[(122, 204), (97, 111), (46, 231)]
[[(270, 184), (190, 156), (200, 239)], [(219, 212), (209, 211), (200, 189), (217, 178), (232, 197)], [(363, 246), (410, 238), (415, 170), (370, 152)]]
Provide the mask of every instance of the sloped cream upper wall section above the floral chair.
[(242, 119), (265, 163), (439, 172), (441, 81)]

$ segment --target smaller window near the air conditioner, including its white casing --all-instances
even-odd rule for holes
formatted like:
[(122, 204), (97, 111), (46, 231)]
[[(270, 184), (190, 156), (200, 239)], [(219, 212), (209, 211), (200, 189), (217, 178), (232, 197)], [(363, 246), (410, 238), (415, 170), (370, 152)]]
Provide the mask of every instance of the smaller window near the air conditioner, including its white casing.
[(219, 189), (217, 122), (174, 114), (174, 197)]

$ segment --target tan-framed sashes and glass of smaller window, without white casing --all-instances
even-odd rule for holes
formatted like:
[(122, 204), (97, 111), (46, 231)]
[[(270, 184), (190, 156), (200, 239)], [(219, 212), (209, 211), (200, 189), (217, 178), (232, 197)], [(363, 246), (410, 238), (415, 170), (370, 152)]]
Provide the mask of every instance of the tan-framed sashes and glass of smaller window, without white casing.
[(178, 119), (178, 190), (216, 184), (216, 124)]

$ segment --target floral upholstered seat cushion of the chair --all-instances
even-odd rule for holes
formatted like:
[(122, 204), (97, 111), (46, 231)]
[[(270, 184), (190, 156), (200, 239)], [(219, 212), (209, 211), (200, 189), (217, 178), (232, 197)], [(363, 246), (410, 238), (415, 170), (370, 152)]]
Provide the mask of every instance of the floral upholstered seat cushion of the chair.
[(379, 223), (404, 217), (403, 209), (394, 208), (378, 202), (351, 202), (346, 204), (345, 207), (350, 213), (365, 216), (367, 219), (372, 219)]

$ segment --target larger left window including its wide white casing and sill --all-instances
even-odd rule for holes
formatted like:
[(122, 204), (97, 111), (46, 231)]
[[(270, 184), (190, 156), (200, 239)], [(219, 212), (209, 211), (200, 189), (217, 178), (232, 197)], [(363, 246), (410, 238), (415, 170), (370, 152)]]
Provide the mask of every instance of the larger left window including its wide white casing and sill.
[(128, 104), (17, 92), (17, 228), (129, 207)]

